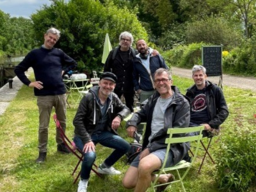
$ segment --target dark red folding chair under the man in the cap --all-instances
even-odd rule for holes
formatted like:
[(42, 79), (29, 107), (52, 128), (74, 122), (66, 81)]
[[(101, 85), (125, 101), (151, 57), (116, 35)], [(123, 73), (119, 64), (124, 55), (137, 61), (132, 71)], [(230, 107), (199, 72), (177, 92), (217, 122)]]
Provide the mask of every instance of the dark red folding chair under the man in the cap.
[[(76, 144), (74, 143), (74, 141), (70, 141), (65, 132), (63, 131), (59, 120), (57, 119), (57, 115), (54, 114), (53, 115), (53, 120), (56, 124), (57, 129), (60, 131), (60, 136), (61, 136), (61, 140), (63, 141), (63, 143), (65, 144), (65, 146), (68, 148), (68, 150), (70, 150), (70, 152), (72, 152), (72, 154), (74, 154), (78, 159), (78, 163), (76, 164), (76, 167), (74, 168), (73, 172), (72, 172), (72, 177), (74, 177), (74, 182), (73, 184), (75, 184), (77, 182), (77, 179), (79, 178), (79, 176), (81, 175), (81, 171), (78, 173), (77, 176), (75, 176), (76, 170), (79, 166), (79, 164), (83, 161), (83, 152), (81, 152), (81, 150), (79, 150), (79, 148), (76, 147)], [(98, 167), (93, 163), (93, 166), (95, 166), (95, 169), (97, 169)], [(92, 168), (92, 171), (94, 173), (96, 173), (96, 175), (98, 175), (99, 177), (101, 177), (100, 173), (98, 173), (94, 168)]]

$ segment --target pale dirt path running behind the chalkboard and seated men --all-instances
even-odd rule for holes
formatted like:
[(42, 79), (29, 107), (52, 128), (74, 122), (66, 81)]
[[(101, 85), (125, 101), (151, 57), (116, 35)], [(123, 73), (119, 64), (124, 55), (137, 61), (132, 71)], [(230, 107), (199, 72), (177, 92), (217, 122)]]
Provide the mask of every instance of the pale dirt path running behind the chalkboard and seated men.
[[(172, 67), (172, 74), (180, 77), (191, 78), (191, 69)], [(219, 83), (220, 77), (207, 77), (212, 83)], [(237, 77), (223, 74), (223, 86), (232, 86), (234, 88), (242, 88), (256, 92), (255, 77)]]

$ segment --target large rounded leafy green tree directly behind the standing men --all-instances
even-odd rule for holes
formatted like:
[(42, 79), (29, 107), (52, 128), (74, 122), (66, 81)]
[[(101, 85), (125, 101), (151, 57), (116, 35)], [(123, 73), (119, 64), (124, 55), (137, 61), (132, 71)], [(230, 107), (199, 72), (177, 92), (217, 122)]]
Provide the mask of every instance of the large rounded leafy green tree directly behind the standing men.
[[(118, 45), (122, 31), (130, 31), (147, 39), (147, 33), (127, 8), (118, 9), (113, 3), (107, 5), (94, 0), (54, 0), (31, 15), (38, 45), (47, 28), (60, 29), (61, 38), (56, 44), (75, 60), (80, 69), (102, 70), (104, 38), (109, 33), (112, 46)], [(83, 67), (84, 63), (84, 67)]]

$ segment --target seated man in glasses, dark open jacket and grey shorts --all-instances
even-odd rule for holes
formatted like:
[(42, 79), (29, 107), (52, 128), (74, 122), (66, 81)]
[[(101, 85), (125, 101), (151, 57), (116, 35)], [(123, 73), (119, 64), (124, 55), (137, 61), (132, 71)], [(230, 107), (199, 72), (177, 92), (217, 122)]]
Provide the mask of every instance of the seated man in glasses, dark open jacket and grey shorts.
[[(189, 125), (189, 102), (175, 86), (172, 86), (172, 76), (168, 69), (156, 70), (154, 86), (157, 92), (149, 97), (141, 111), (132, 115), (126, 125), (127, 132), (132, 137), (138, 124), (147, 122), (143, 151), (132, 161), (123, 179), (124, 187), (135, 188), (136, 192), (147, 191), (151, 181), (156, 179), (156, 175), (152, 172), (161, 168), (163, 164), (167, 147), (164, 141), (168, 137), (168, 128), (188, 127)], [(188, 143), (172, 145), (166, 166), (179, 163), (188, 150)], [(163, 184), (172, 180), (174, 180), (172, 174), (163, 174), (158, 182)], [(159, 186), (157, 191), (164, 191), (166, 187), (167, 185)]]

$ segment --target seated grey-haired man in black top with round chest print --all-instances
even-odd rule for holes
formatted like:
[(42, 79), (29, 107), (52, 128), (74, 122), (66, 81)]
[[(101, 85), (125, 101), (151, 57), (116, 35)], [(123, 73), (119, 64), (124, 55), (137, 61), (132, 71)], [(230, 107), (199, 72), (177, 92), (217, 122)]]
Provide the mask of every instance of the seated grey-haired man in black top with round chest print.
[(204, 125), (204, 136), (218, 132), (220, 125), (228, 117), (228, 107), (221, 88), (207, 81), (206, 77), (205, 67), (195, 65), (192, 68), (195, 84), (186, 93), (191, 104), (189, 127)]

